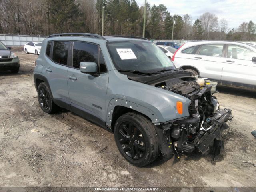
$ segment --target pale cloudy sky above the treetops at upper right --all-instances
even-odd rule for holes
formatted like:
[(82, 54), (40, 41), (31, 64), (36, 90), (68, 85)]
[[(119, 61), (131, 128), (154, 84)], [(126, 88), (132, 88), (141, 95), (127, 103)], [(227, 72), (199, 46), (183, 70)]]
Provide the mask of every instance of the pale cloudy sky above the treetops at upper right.
[[(136, 0), (144, 6), (144, 0)], [(238, 28), (242, 22), (256, 23), (256, 0), (147, 0), (150, 6), (164, 4), (170, 14), (189, 14), (193, 22), (205, 12), (215, 14), (219, 21), (228, 21), (228, 28)]]

